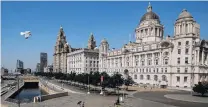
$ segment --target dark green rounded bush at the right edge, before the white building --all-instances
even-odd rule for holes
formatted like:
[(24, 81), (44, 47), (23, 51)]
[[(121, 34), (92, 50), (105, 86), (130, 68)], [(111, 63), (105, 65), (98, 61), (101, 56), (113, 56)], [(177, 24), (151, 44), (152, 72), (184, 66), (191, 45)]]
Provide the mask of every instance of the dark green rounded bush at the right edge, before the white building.
[(202, 85), (201, 82), (198, 82), (198, 84), (196, 84), (193, 87), (193, 91), (197, 92), (197, 93), (200, 93), (201, 96), (204, 96), (204, 94), (207, 93), (207, 89)]

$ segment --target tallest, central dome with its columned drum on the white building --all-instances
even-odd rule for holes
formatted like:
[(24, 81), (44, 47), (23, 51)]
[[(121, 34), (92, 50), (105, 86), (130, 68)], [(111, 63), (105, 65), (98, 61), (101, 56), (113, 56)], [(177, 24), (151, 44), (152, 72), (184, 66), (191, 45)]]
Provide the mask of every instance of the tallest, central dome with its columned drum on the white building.
[(152, 6), (149, 3), (147, 13), (142, 16), (135, 30), (136, 43), (159, 42), (163, 39), (163, 32), (159, 16), (152, 11)]

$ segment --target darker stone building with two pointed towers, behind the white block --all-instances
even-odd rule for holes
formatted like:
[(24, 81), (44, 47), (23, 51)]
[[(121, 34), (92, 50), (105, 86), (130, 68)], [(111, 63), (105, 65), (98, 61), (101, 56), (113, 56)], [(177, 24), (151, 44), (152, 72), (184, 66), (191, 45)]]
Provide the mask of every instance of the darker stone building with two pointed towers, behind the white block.
[[(95, 47), (96, 47), (96, 42), (94, 40), (93, 34), (91, 34), (90, 39), (88, 41), (88, 50), (94, 50)], [(67, 72), (69, 72), (67, 70), (75, 70), (74, 68), (73, 69), (67, 68), (70, 66), (70, 65), (67, 65), (67, 54), (69, 54), (69, 56), (74, 55), (74, 53), (77, 53), (80, 50), (82, 50), (82, 48), (72, 48), (67, 43), (66, 35), (64, 33), (63, 27), (61, 26), (58, 36), (57, 36), (56, 45), (54, 47), (53, 72), (67, 73)], [(84, 50), (86, 50), (86, 49), (84, 49)], [(87, 51), (84, 51), (84, 53), (86, 53), (86, 52)], [(77, 70), (80, 70), (80, 69), (77, 68)]]

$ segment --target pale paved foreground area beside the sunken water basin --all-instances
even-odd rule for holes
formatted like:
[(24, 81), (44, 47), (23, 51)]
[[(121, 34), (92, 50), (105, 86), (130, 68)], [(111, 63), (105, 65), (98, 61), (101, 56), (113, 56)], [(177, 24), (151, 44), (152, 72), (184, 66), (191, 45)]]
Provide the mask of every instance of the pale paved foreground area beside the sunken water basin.
[[(80, 107), (77, 105), (79, 101), (85, 102), (85, 107), (113, 107), (117, 97), (103, 97), (99, 95), (74, 94), (69, 93), (69, 96), (54, 98), (37, 103), (21, 104), (21, 107)], [(13, 105), (12, 107), (18, 107)]]

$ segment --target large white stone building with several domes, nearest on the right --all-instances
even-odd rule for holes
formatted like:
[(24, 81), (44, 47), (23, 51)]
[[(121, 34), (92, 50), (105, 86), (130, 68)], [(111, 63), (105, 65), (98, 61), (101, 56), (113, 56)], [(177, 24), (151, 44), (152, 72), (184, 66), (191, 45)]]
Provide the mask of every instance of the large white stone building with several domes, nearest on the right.
[(189, 89), (208, 81), (208, 41), (200, 40), (200, 26), (183, 10), (174, 24), (174, 35), (164, 39), (164, 26), (149, 4), (135, 29), (135, 42), (109, 50), (106, 39), (99, 47), (99, 71), (124, 70), (135, 82)]

